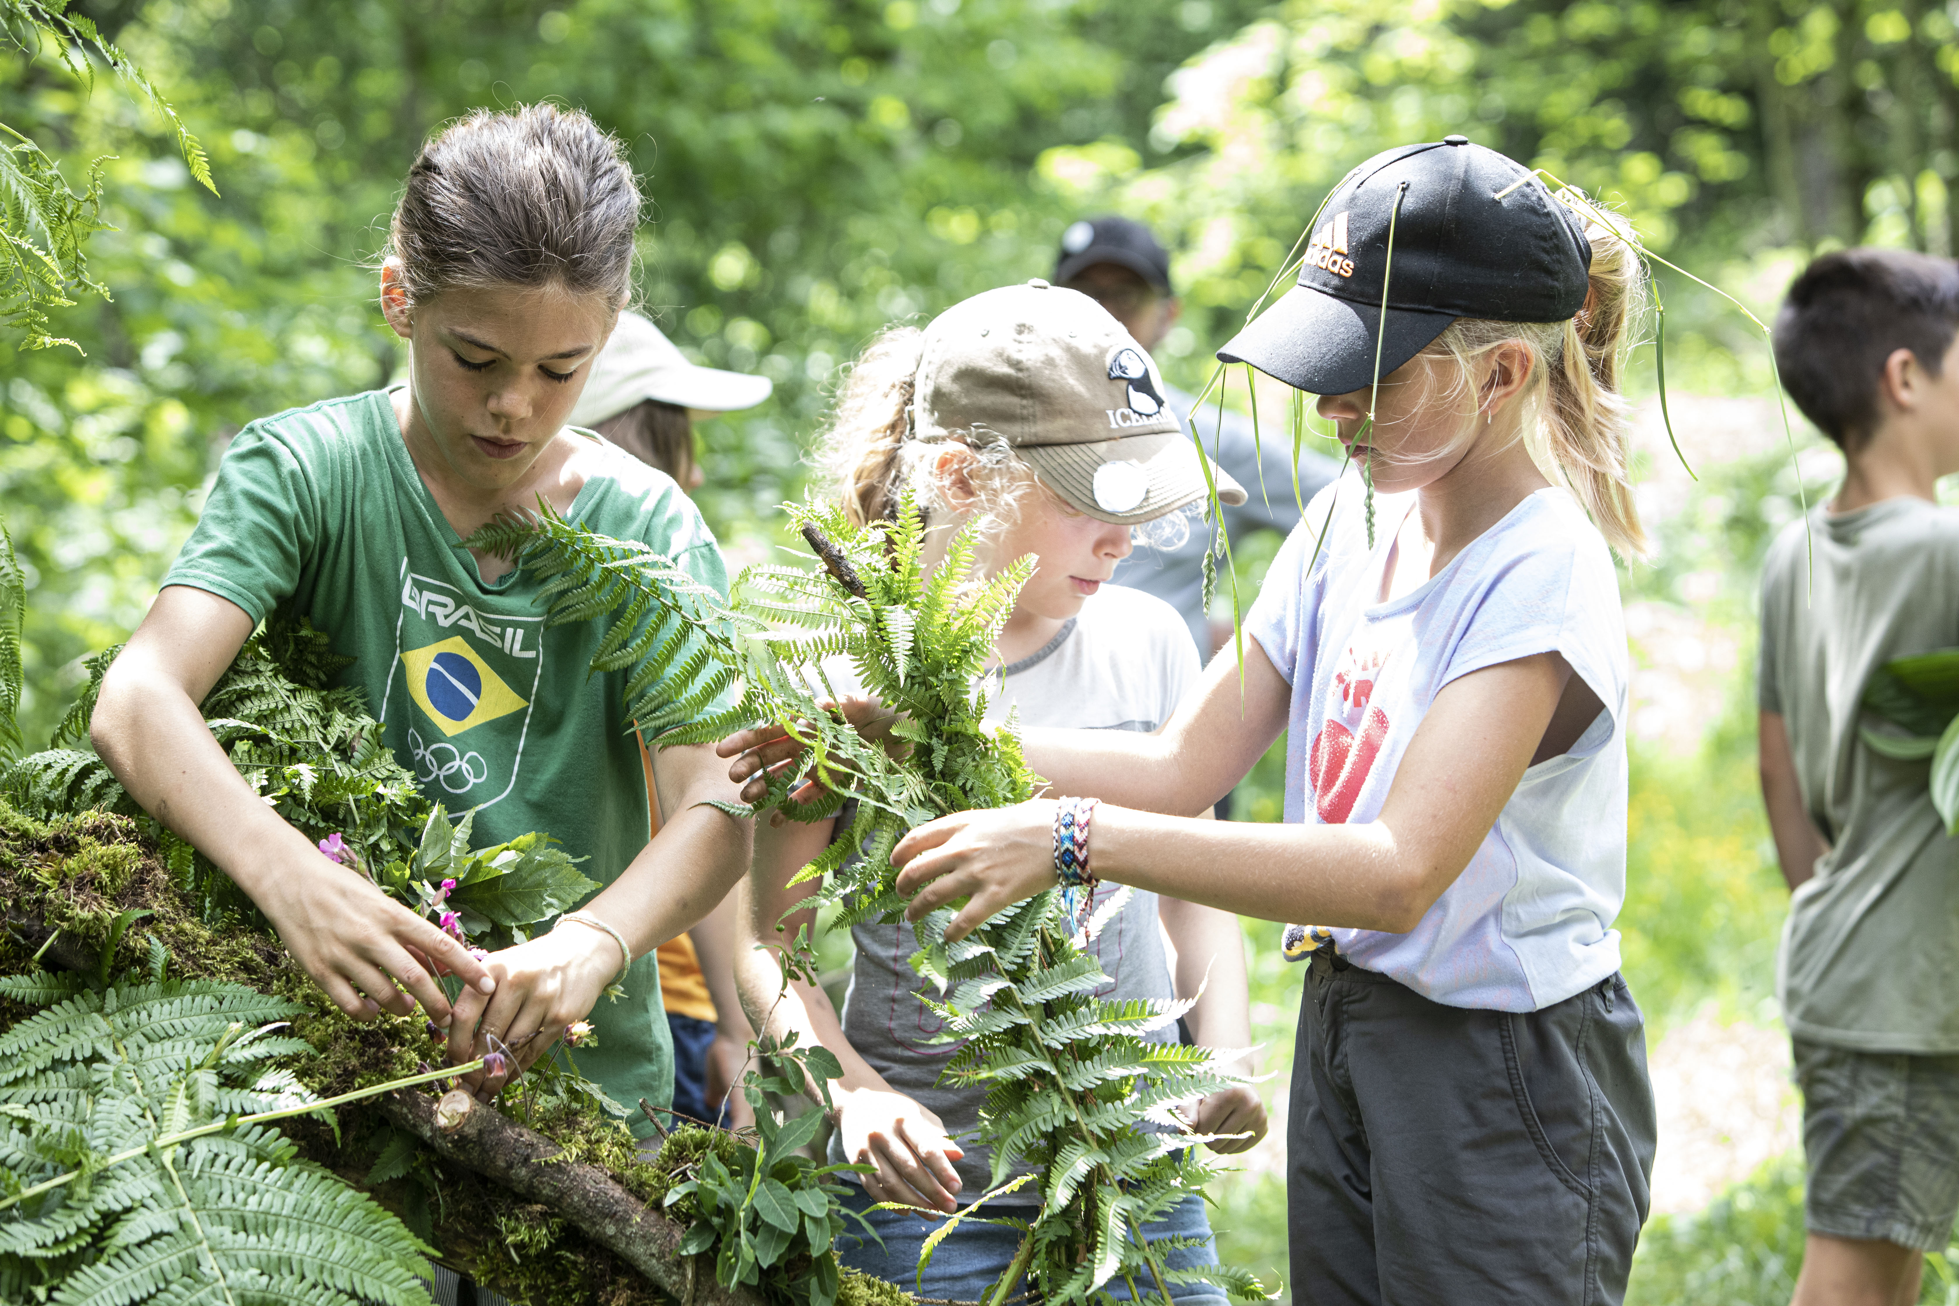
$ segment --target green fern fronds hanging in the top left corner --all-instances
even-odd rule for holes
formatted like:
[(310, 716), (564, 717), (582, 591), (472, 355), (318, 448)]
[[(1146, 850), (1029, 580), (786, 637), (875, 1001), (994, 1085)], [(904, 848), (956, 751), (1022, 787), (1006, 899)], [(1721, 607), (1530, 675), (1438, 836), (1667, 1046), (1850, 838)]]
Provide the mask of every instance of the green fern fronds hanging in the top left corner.
[[(143, 70), (67, 0), (0, 0), (0, 43), (27, 59), (53, 49), (84, 90), (94, 88), (94, 59), (102, 59), (170, 123), (190, 174), (217, 194), (198, 137), (190, 135)], [(67, 345), (80, 352), (74, 341), (47, 333), (47, 309), (72, 305), (69, 294), (76, 290), (108, 298), (108, 288), (88, 276), (84, 253), (88, 237), (108, 229), (100, 217), (104, 163), (96, 159), (90, 164), (82, 192), (74, 194), (47, 151), (0, 123), (0, 319), (25, 331), (27, 349)]]

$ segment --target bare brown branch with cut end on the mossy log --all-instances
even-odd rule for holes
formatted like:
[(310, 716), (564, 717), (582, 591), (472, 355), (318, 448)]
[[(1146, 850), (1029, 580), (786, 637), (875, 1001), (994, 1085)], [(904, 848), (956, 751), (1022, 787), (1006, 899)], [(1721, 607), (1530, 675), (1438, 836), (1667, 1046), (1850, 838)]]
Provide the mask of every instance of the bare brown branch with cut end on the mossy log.
[(764, 1306), (750, 1288), (723, 1288), (705, 1255), (680, 1255), (686, 1228), (648, 1208), (619, 1183), (576, 1161), (556, 1161), (560, 1147), (454, 1089), (441, 1102), (407, 1089), (378, 1098), (380, 1110), (439, 1155), (550, 1206), (592, 1241), (672, 1294), (682, 1306)]

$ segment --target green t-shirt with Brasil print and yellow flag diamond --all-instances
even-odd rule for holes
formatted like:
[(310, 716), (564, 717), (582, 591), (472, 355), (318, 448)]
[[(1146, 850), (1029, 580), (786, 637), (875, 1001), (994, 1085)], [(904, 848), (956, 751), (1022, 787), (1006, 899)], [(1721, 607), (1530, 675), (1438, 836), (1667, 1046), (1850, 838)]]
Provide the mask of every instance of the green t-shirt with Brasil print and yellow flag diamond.
[[(727, 593), (699, 511), (662, 472), (601, 444), (568, 519), (639, 540)], [(646, 846), (646, 779), (623, 728), (625, 672), (588, 676), (601, 621), (545, 629), (539, 583), (476, 560), (415, 472), (384, 392), (255, 421), (217, 470), (165, 585), (194, 585), (253, 621), (290, 605), (355, 658), (388, 746), (451, 816), (474, 809), (478, 846), (527, 830), (562, 840), (601, 885)], [(719, 705), (709, 707), (717, 711)], [(648, 952), (627, 997), (599, 999), (578, 1069), (633, 1108), (674, 1095), (674, 1046)], [(635, 1132), (650, 1132), (631, 1110)]]

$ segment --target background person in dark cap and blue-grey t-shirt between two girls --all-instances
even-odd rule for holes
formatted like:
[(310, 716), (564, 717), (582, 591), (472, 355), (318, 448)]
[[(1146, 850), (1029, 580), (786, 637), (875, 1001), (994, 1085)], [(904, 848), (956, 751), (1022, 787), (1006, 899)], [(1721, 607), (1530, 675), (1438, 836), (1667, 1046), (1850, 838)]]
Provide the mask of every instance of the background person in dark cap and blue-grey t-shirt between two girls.
[[(1128, 217), (1085, 217), (1070, 225), (1062, 233), (1052, 280), (1099, 302), (1152, 352), (1170, 335), (1181, 309), (1170, 282), (1170, 255), (1146, 225)], [(1179, 417), (1197, 401), (1197, 396), (1168, 386), (1164, 397)], [(1246, 490), (1244, 503), (1224, 507), (1224, 529), (1232, 540), (1254, 531), (1291, 533), (1299, 525), (1299, 503), (1318, 493), (1340, 470), (1330, 458), (1301, 454), (1295, 499), (1291, 441), (1277, 427), (1266, 429), (1264, 439), (1254, 439), (1248, 417), (1226, 409), (1220, 425), (1213, 403), (1205, 403), (1205, 411), (1195, 415), (1195, 425), (1205, 452)], [(1138, 548), (1117, 568), (1115, 583), (1154, 593), (1175, 607), (1197, 640), (1199, 656), (1209, 660), (1230, 638), (1228, 625), (1213, 629), (1203, 601), (1203, 562), (1211, 533), (1193, 521), (1181, 542), (1168, 542), (1175, 536), (1158, 538), (1166, 542), (1146, 540), (1148, 548)], [(1224, 815), (1226, 807), (1220, 805), (1218, 816)]]

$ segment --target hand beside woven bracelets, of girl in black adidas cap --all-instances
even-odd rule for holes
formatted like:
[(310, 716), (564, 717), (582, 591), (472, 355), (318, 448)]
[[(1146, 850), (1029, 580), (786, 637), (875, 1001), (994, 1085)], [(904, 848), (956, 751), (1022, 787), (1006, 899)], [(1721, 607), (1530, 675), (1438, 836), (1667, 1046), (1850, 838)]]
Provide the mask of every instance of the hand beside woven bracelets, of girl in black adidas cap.
[(1054, 799), (1028, 799), (1015, 807), (954, 813), (911, 830), (891, 850), (903, 867), (897, 891), (917, 893), (905, 907), (907, 920), (923, 920), (954, 899), (970, 899), (946, 926), (958, 942), (989, 916), (1052, 889)]

